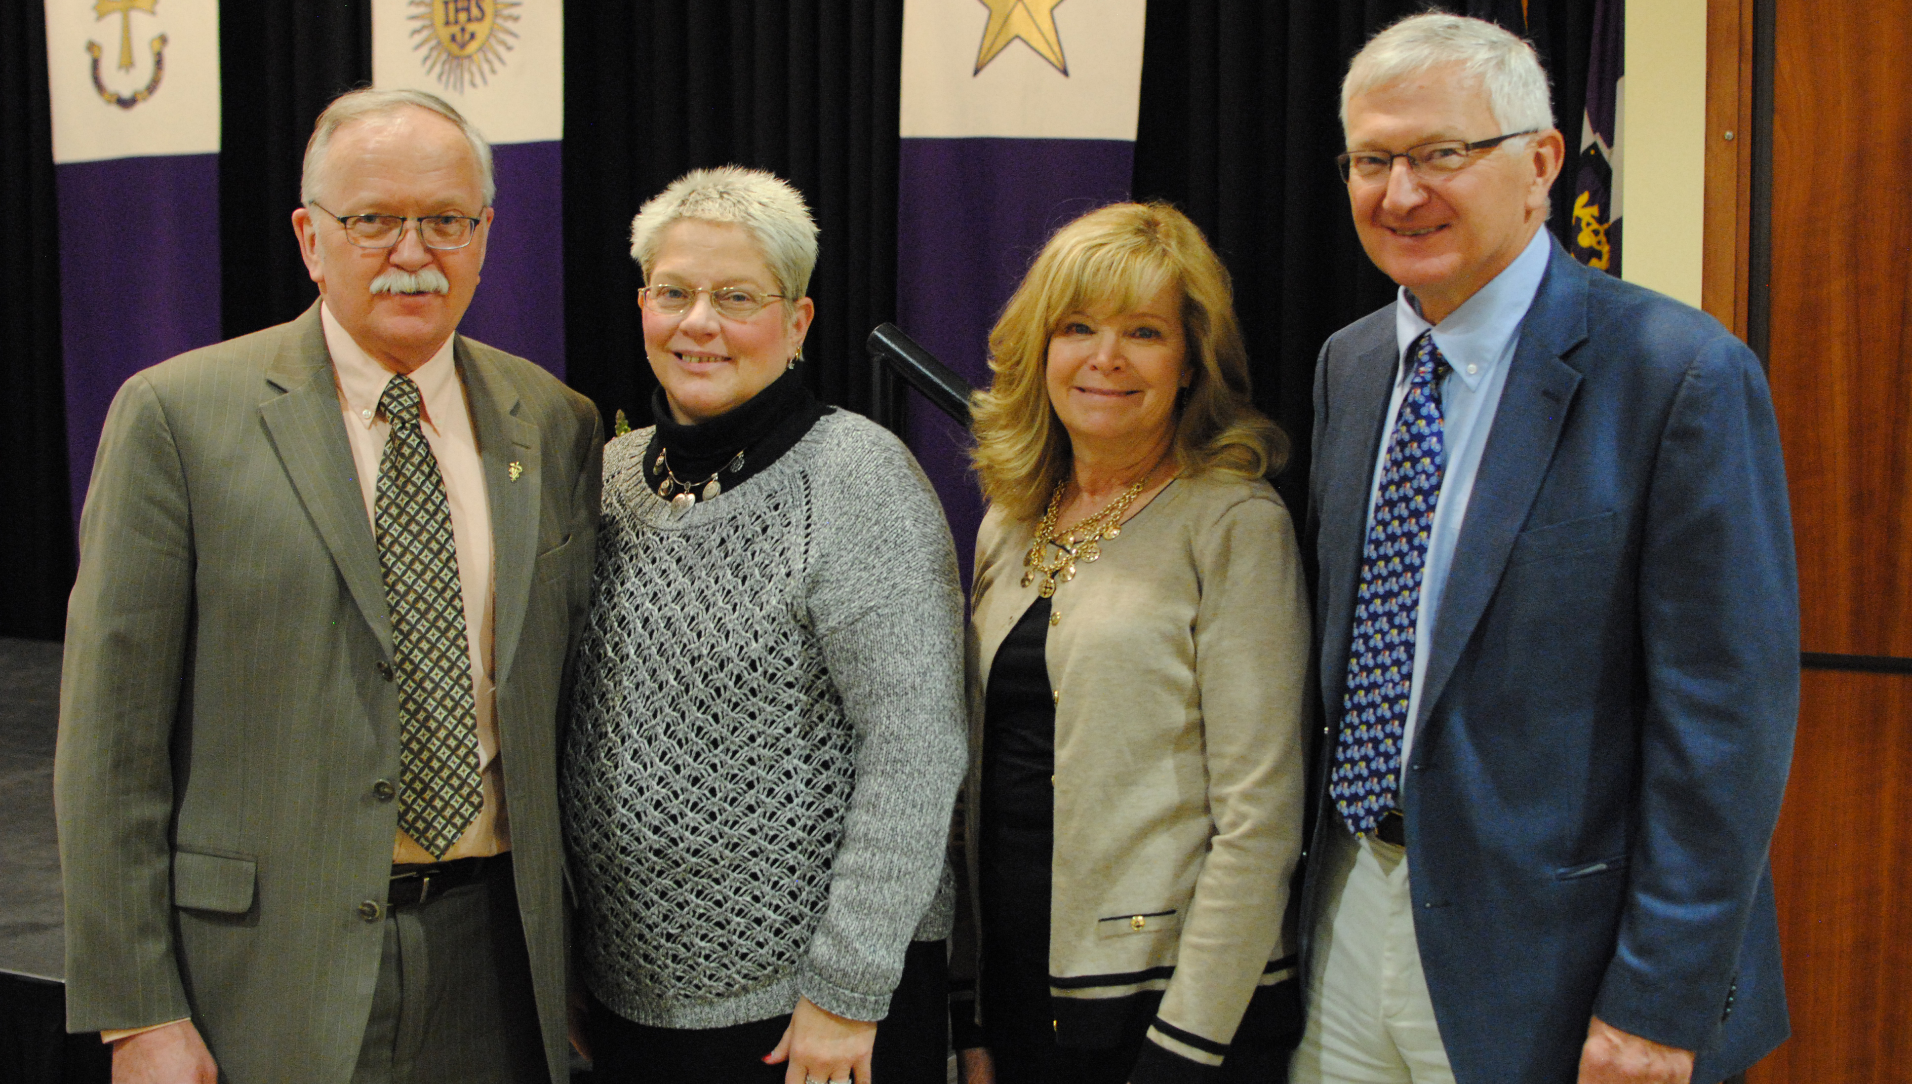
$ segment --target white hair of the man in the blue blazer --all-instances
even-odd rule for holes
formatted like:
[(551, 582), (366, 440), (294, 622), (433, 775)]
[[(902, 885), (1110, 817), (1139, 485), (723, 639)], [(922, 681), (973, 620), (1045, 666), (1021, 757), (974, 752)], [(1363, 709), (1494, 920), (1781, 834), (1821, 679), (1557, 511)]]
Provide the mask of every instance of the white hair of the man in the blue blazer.
[(1380, 31), (1354, 54), (1340, 82), (1342, 134), (1352, 98), (1436, 67), (1459, 67), (1463, 78), (1478, 82), (1501, 132), (1554, 126), (1547, 73), (1533, 46), (1486, 19), (1424, 11)]

